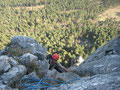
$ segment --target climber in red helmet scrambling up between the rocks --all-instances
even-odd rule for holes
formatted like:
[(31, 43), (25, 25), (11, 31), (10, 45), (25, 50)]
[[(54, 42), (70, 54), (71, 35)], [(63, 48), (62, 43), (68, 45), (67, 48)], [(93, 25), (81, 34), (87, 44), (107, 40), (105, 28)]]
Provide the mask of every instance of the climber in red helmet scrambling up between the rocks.
[(47, 60), (49, 60), (49, 64), (50, 64), (49, 70), (52, 70), (53, 68), (55, 68), (60, 73), (68, 72), (67, 68), (65, 68), (58, 62), (58, 59), (59, 59), (58, 54), (53, 54), (53, 55), (47, 56)]

